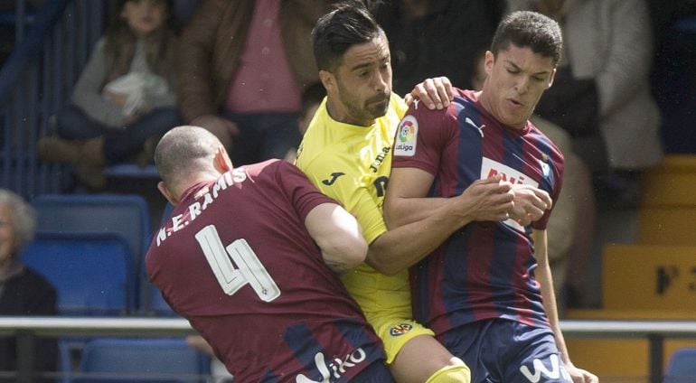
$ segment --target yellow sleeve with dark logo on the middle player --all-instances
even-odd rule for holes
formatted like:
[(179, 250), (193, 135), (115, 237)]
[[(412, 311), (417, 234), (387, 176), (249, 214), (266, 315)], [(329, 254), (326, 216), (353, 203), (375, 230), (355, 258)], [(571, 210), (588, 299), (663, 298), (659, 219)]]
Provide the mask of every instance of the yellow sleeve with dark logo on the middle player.
[[(310, 163), (300, 165), (300, 168), (321, 192), (341, 202), (343, 208), (355, 216), (360, 222), (365, 241), (372, 243), (387, 231), (378, 201), (362, 185), (361, 175), (354, 165), (343, 164), (343, 158), (335, 154), (324, 154), (317, 155)], [(336, 169), (342, 171), (335, 173)]]

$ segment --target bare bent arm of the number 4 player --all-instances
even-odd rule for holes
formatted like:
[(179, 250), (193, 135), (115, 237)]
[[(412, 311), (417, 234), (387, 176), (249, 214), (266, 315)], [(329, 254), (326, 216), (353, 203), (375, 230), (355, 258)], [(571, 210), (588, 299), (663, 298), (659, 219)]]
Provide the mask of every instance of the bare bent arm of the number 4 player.
[(335, 203), (321, 203), (305, 219), (309, 235), (322, 251), (324, 263), (343, 274), (360, 265), (367, 253), (358, 221)]

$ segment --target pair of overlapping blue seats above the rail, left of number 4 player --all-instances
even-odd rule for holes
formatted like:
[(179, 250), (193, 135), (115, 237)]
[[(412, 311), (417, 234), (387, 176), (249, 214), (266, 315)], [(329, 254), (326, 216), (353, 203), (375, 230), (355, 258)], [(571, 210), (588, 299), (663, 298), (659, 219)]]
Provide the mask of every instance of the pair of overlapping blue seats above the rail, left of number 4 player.
[(33, 199), (37, 234), (22, 259), (58, 290), (62, 315), (173, 315), (143, 269), (152, 238), (146, 200), (126, 194)]

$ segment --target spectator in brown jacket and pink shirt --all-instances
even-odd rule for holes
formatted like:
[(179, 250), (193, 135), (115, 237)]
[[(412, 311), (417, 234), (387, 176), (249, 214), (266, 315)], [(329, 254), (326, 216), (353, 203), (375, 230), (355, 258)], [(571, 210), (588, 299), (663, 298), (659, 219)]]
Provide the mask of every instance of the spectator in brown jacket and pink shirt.
[(318, 81), (311, 31), (319, 0), (208, 0), (178, 55), (185, 122), (216, 135), (234, 163), (284, 158), (299, 144), (303, 90)]

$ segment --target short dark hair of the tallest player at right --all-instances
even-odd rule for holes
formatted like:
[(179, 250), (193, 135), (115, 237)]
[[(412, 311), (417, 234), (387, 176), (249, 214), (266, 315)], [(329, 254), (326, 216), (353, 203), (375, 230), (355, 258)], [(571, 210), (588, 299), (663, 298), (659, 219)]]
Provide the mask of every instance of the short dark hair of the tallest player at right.
[(519, 48), (531, 48), (534, 53), (553, 59), (553, 65), (560, 61), (563, 38), (559, 23), (543, 14), (530, 11), (513, 12), (498, 24), (491, 43), (491, 51), (497, 56), (510, 44)]

